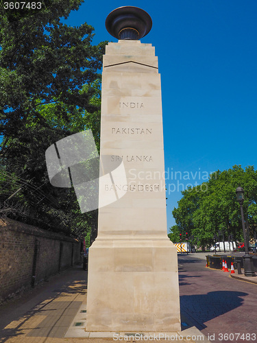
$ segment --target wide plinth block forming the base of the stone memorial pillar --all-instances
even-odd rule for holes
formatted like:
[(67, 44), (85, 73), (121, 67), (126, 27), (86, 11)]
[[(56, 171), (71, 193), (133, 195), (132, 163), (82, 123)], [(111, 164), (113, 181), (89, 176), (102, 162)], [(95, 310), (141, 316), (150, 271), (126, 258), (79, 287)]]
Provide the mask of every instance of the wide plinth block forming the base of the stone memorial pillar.
[(86, 331), (180, 331), (177, 249), (164, 239), (96, 239)]

